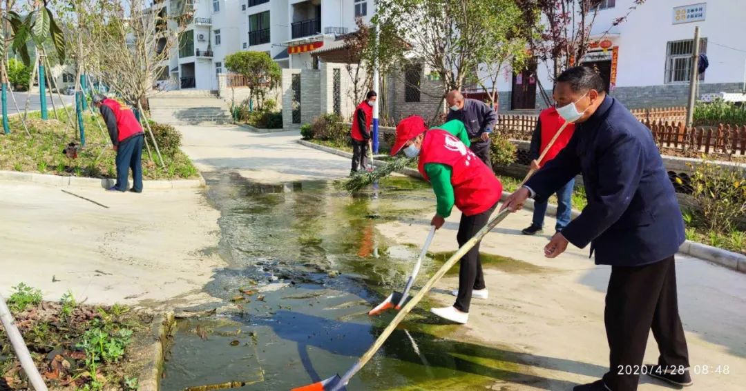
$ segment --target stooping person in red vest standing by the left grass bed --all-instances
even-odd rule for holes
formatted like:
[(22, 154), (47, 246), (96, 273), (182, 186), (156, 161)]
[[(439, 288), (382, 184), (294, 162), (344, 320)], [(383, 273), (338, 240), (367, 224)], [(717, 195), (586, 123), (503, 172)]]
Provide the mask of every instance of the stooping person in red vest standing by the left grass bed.
[(130, 191), (142, 192), (142, 143), (145, 133), (142, 132), (140, 122), (135, 118), (132, 110), (119, 101), (107, 98), (105, 95), (93, 96), (93, 105), (104, 117), (109, 129), (111, 143), (116, 150), (116, 184), (108, 191), (127, 191), (128, 174), (132, 169), (133, 185)]

